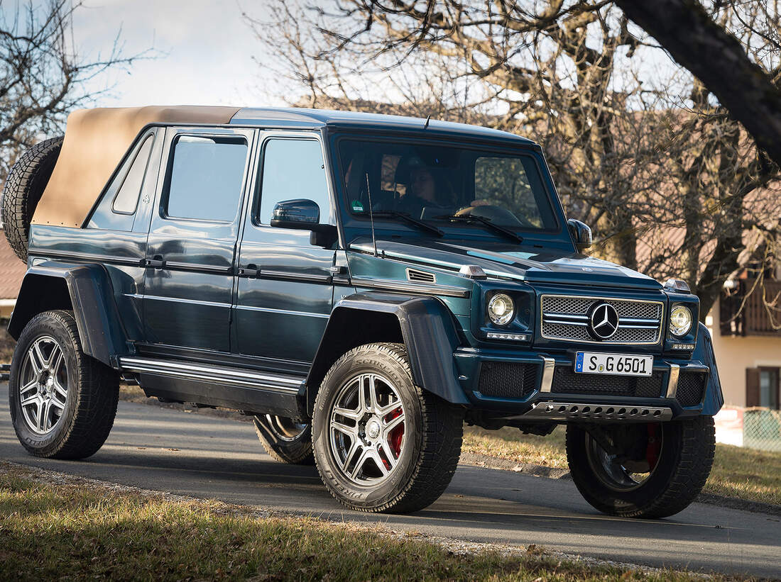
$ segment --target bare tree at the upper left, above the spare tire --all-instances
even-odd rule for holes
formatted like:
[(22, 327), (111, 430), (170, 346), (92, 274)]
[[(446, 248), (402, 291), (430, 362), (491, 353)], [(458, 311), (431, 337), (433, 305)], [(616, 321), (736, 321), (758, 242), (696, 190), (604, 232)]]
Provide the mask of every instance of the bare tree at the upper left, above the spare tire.
[(81, 58), (72, 27), (80, 6), (70, 0), (0, 0), (0, 183), (21, 151), (62, 132), (73, 108), (102, 94), (88, 91), (89, 81), (151, 55), (122, 55), (117, 37), (105, 58)]

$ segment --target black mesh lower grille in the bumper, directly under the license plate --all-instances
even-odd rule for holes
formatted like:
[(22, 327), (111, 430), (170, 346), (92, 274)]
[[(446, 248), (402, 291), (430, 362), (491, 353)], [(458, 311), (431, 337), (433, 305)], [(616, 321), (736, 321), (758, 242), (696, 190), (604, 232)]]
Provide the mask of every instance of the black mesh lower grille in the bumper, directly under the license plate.
[(664, 372), (651, 376), (613, 376), (610, 374), (578, 374), (568, 366), (556, 366), (551, 392), (555, 394), (593, 394), (595, 396), (662, 396)]

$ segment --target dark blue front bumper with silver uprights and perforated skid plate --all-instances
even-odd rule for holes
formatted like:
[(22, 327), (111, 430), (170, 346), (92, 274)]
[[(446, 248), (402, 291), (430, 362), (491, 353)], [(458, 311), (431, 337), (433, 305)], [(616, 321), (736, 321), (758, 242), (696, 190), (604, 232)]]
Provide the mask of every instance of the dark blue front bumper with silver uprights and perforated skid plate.
[(528, 421), (668, 421), (702, 413), (710, 369), (654, 356), (650, 378), (576, 374), (574, 353), (454, 353), (458, 381), (476, 410)]

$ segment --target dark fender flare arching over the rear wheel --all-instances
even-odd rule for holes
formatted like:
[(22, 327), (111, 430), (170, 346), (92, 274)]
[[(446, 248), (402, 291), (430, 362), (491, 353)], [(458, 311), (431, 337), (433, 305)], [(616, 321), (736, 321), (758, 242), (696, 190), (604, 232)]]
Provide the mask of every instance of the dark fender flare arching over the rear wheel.
[[(47, 295), (53, 279), (65, 283), (67, 297), (62, 297), (59, 290)], [(95, 360), (116, 367), (116, 356), (127, 351), (127, 334), (105, 267), (45, 261), (28, 268), (11, 314), (9, 334), (19, 339), (27, 322), (49, 309), (73, 309), (81, 349)]]

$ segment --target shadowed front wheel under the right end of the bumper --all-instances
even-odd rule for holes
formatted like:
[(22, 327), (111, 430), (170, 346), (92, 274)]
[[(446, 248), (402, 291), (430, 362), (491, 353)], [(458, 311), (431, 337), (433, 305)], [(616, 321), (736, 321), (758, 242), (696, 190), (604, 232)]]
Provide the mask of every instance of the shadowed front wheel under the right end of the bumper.
[[(592, 435), (593, 433), (593, 435)], [(583, 498), (613, 516), (661, 518), (700, 494), (715, 452), (712, 417), (567, 426), (567, 461)]]

